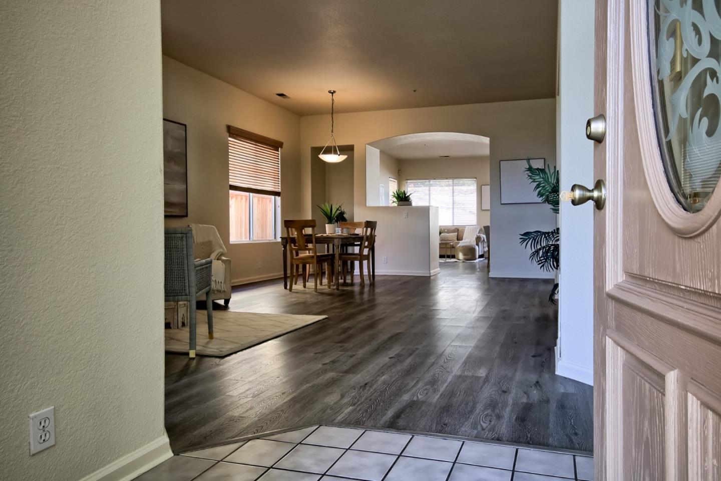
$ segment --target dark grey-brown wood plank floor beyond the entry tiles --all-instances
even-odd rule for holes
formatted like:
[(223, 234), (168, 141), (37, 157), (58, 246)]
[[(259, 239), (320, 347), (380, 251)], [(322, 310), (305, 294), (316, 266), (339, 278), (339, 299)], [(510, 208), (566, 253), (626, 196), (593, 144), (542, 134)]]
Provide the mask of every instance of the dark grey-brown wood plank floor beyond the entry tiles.
[(230, 309), (328, 319), (226, 358), (167, 354), (174, 451), (335, 423), (591, 451), (592, 389), (554, 374), (552, 283), (482, 262), (374, 287), (236, 289)]

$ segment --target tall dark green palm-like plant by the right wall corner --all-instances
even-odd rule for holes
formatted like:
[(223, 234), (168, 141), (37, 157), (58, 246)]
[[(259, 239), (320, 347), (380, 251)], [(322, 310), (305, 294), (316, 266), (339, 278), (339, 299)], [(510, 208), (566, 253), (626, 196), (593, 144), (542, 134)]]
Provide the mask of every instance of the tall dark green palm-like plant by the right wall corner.
[[(534, 192), (539, 199), (551, 206), (551, 211), (558, 213), (559, 186), (558, 170), (547, 166), (545, 169), (532, 167), (531, 160), (526, 159), (526, 177), (534, 185)], [(552, 231), (527, 231), (521, 234), (520, 243), (523, 247), (531, 248), (530, 260), (536, 262), (543, 270), (551, 272), (558, 270), (559, 266), (559, 229)], [(554, 283), (548, 301), (556, 304), (554, 299), (558, 292), (558, 283)]]

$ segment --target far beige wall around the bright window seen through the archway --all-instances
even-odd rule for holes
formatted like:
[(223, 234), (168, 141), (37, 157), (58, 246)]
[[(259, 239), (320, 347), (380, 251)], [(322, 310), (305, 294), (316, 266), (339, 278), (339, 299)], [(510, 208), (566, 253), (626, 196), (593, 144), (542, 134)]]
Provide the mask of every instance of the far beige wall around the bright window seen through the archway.
[[(451, 157), (449, 159), (403, 159), (399, 162), (402, 188), (408, 179), (476, 178), (476, 223), (490, 224), (490, 211), (481, 210), (481, 185), (490, 185), (490, 159), (484, 157)], [(399, 184), (400, 185), (400, 184)], [(497, 185), (497, 183), (496, 183)]]

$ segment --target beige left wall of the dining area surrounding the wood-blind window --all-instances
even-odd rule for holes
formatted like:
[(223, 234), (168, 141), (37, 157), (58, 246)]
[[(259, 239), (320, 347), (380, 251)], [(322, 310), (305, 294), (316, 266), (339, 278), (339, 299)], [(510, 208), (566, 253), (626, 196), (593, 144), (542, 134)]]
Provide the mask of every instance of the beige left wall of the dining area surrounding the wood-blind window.
[[(231, 258), (233, 283), (282, 275), (280, 242), (230, 243), (226, 125), (283, 141), (280, 216), (298, 219), (304, 211), (299, 203), (298, 115), (163, 57), (163, 116), (187, 125), (188, 177), (188, 216), (167, 217), (165, 225), (198, 223), (216, 226)], [(260, 262), (260, 268), (257, 262)]]

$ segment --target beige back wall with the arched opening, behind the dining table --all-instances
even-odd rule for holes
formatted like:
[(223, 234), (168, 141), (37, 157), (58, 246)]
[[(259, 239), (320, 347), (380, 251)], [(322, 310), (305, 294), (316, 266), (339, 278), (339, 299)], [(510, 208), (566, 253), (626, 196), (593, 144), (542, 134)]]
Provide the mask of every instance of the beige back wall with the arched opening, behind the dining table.
[[(499, 161), (544, 157), (555, 164), (556, 105), (554, 99), (523, 100), (472, 105), (449, 105), (402, 110), (377, 110), (335, 116), (338, 144), (355, 146), (355, 219), (372, 219), (366, 207), (366, 144), (381, 138), (417, 132), (473, 133), (490, 138), (491, 275), (503, 277), (548, 277), (528, 260), (528, 251), (518, 244), (518, 234), (527, 230), (549, 230), (555, 215), (544, 204), (501, 205)], [(301, 118), (302, 202), (310, 208), (310, 146), (327, 141), (329, 115)], [(378, 187), (373, 187), (378, 191)], [(376, 247), (378, 256), (384, 247)], [(389, 259), (389, 264), (391, 260)]]

